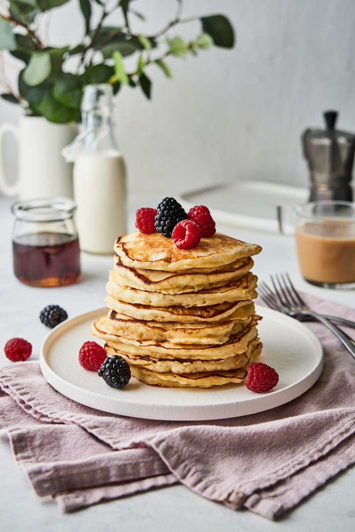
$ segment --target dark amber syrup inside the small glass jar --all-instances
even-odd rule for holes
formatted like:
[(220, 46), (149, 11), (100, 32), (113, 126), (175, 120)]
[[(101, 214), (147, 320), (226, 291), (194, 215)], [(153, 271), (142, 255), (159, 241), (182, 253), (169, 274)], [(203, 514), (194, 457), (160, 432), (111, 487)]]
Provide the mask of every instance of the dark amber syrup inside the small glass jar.
[(72, 235), (21, 235), (12, 247), (15, 276), (26, 285), (63, 286), (80, 276), (79, 240)]

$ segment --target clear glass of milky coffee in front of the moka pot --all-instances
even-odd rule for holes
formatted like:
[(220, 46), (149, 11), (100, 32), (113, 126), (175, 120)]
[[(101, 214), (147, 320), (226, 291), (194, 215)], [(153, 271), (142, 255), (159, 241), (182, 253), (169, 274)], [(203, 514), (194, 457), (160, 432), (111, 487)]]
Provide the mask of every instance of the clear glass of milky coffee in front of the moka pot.
[(324, 288), (355, 288), (355, 207), (317, 201), (296, 207), (296, 245), (304, 279)]

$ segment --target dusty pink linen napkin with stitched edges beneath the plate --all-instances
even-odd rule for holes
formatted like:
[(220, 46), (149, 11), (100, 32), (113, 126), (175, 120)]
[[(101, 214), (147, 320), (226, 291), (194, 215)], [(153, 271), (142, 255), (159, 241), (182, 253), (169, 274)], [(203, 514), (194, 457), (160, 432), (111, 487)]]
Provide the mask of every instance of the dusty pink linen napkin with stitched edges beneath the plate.
[[(355, 321), (355, 310), (305, 300)], [(69, 400), (38, 362), (17, 362), (0, 368), (0, 428), (36, 493), (62, 511), (181, 482), (275, 519), (355, 462), (355, 360), (324, 325), (306, 325), (323, 345), (324, 370), (278, 408), (201, 422), (127, 418)]]

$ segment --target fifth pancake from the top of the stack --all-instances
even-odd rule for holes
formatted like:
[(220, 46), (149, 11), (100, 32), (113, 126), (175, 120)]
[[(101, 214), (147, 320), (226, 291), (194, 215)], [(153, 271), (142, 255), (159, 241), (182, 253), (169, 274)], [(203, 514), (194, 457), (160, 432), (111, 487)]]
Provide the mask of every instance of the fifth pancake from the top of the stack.
[(229, 318), (219, 323), (179, 323), (176, 321), (135, 320), (109, 311), (104, 327), (110, 334), (131, 340), (156, 340), (174, 344), (224, 344), (251, 321)]

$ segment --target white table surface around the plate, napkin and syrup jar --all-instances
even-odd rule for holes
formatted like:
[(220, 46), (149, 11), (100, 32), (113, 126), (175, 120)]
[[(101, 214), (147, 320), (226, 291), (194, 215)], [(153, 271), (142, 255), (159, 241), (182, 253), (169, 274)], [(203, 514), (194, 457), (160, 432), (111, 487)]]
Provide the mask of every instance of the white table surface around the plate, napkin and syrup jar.
[[(162, 196), (163, 197), (163, 196)], [(131, 198), (130, 230), (134, 230), (134, 211), (139, 206), (156, 206), (160, 196)], [(39, 312), (49, 304), (62, 306), (74, 317), (103, 306), (107, 270), (111, 256), (82, 254), (84, 279), (77, 285), (61, 288), (35, 288), (21, 284), (13, 275), (11, 198), (0, 197), (0, 363), (6, 341), (26, 338), (33, 345), (32, 359), (48, 329), (39, 321)], [(255, 257), (253, 272), (268, 281), (270, 273), (287, 271), (297, 288), (355, 308), (355, 291), (335, 291), (313, 287), (301, 277), (297, 267), (293, 237), (221, 226), (220, 232), (263, 247)], [(206, 500), (182, 485), (156, 489), (143, 494), (101, 503), (70, 514), (61, 514), (50, 497), (39, 498), (26, 476), (17, 468), (6, 435), (0, 437), (0, 529), (6, 532), (91, 532), (130, 530), (144, 532), (206, 532), (214, 530), (273, 532), (353, 532), (355, 530), (355, 467), (350, 467), (307, 497), (294, 510), (276, 522), (247, 510), (232, 511)]]

